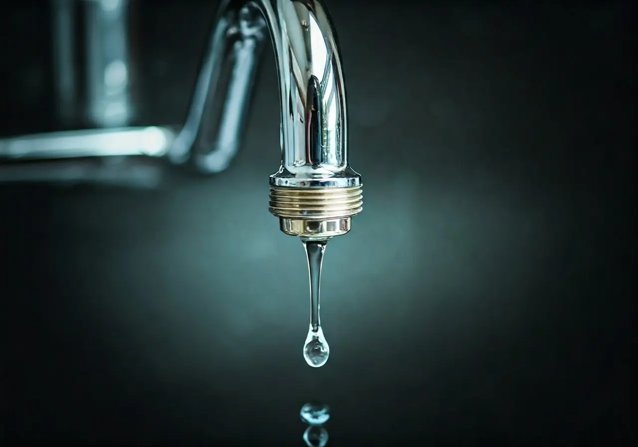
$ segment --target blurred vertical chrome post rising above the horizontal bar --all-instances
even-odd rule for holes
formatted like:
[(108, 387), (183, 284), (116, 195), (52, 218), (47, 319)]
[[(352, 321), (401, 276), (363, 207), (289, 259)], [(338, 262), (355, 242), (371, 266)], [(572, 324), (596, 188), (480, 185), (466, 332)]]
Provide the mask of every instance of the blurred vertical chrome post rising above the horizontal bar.
[[(130, 1), (51, 0), (56, 108), (64, 125), (81, 121), (102, 128), (130, 123)], [(78, 42), (78, 19), (84, 20), (82, 42)], [(79, 52), (84, 56), (80, 70)]]

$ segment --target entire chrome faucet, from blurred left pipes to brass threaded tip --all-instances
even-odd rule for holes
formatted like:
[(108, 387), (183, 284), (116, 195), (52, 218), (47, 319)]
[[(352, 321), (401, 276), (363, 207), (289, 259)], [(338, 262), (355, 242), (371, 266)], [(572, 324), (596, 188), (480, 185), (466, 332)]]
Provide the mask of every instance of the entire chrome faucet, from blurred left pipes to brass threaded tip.
[[(74, 123), (78, 128), (0, 140), (0, 160), (147, 156), (176, 165), (191, 160), (200, 172), (221, 172), (241, 143), (258, 59), (270, 34), (279, 73), (282, 152), (270, 180), (269, 209), (286, 234), (325, 239), (348, 232), (362, 208), (362, 184), (348, 166), (341, 55), (323, 1), (223, 0), (186, 122), (178, 128), (130, 125), (131, 3), (135, 0), (52, 0), (57, 118), (64, 129)], [(74, 54), (78, 11), (86, 27), (82, 82)], [(84, 86), (84, 95), (78, 86)], [(117, 163), (107, 168), (115, 177), (122, 170)], [(0, 181), (81, 179), (83, 172), (77, 164), (5, 163)]]

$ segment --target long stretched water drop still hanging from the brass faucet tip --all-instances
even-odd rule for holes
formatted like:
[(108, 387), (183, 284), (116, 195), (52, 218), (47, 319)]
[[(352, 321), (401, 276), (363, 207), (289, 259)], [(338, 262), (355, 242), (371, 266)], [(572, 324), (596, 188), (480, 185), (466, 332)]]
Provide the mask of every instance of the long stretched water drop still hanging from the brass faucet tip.
[(304, 344), (304, 358), (311, 367), (321, 367), (328, 360), (330, 347), (323, 337), (319, 318), (319, 292), (323, 252), (327, 240), (308, 241), (302, 239), (308, 255), (308, 271), (310, 275), (310, 328)]

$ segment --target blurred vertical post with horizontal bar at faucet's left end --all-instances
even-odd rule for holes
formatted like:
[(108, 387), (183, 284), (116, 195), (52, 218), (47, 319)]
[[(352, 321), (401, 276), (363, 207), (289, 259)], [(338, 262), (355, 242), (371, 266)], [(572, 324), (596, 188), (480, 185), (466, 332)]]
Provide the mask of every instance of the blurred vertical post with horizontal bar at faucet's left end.
[(0, 139), (0, 181), (157, 185), (159, 166), (122, 158), (163, 157), (175, 139), (172, 126), (130, 126), (131, 3), (50, 0), (59, 130)]

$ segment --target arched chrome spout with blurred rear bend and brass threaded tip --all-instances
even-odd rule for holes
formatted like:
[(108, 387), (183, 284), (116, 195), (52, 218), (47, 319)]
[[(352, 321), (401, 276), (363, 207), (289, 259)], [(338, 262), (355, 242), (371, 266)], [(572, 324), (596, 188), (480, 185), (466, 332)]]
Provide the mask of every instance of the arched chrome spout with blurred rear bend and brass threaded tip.
[(267, 34), (281, 102), (281, 165), (270, 178), (269, 211), (286, 234), (345, 234), (362, 209), (362, 181), (348, 166), (341, 54), (323, 0), (223, 0), (186, 125), (169, 157), (180, 163), (190, 154), (203, 172), (228, 166), (241, 142)]

